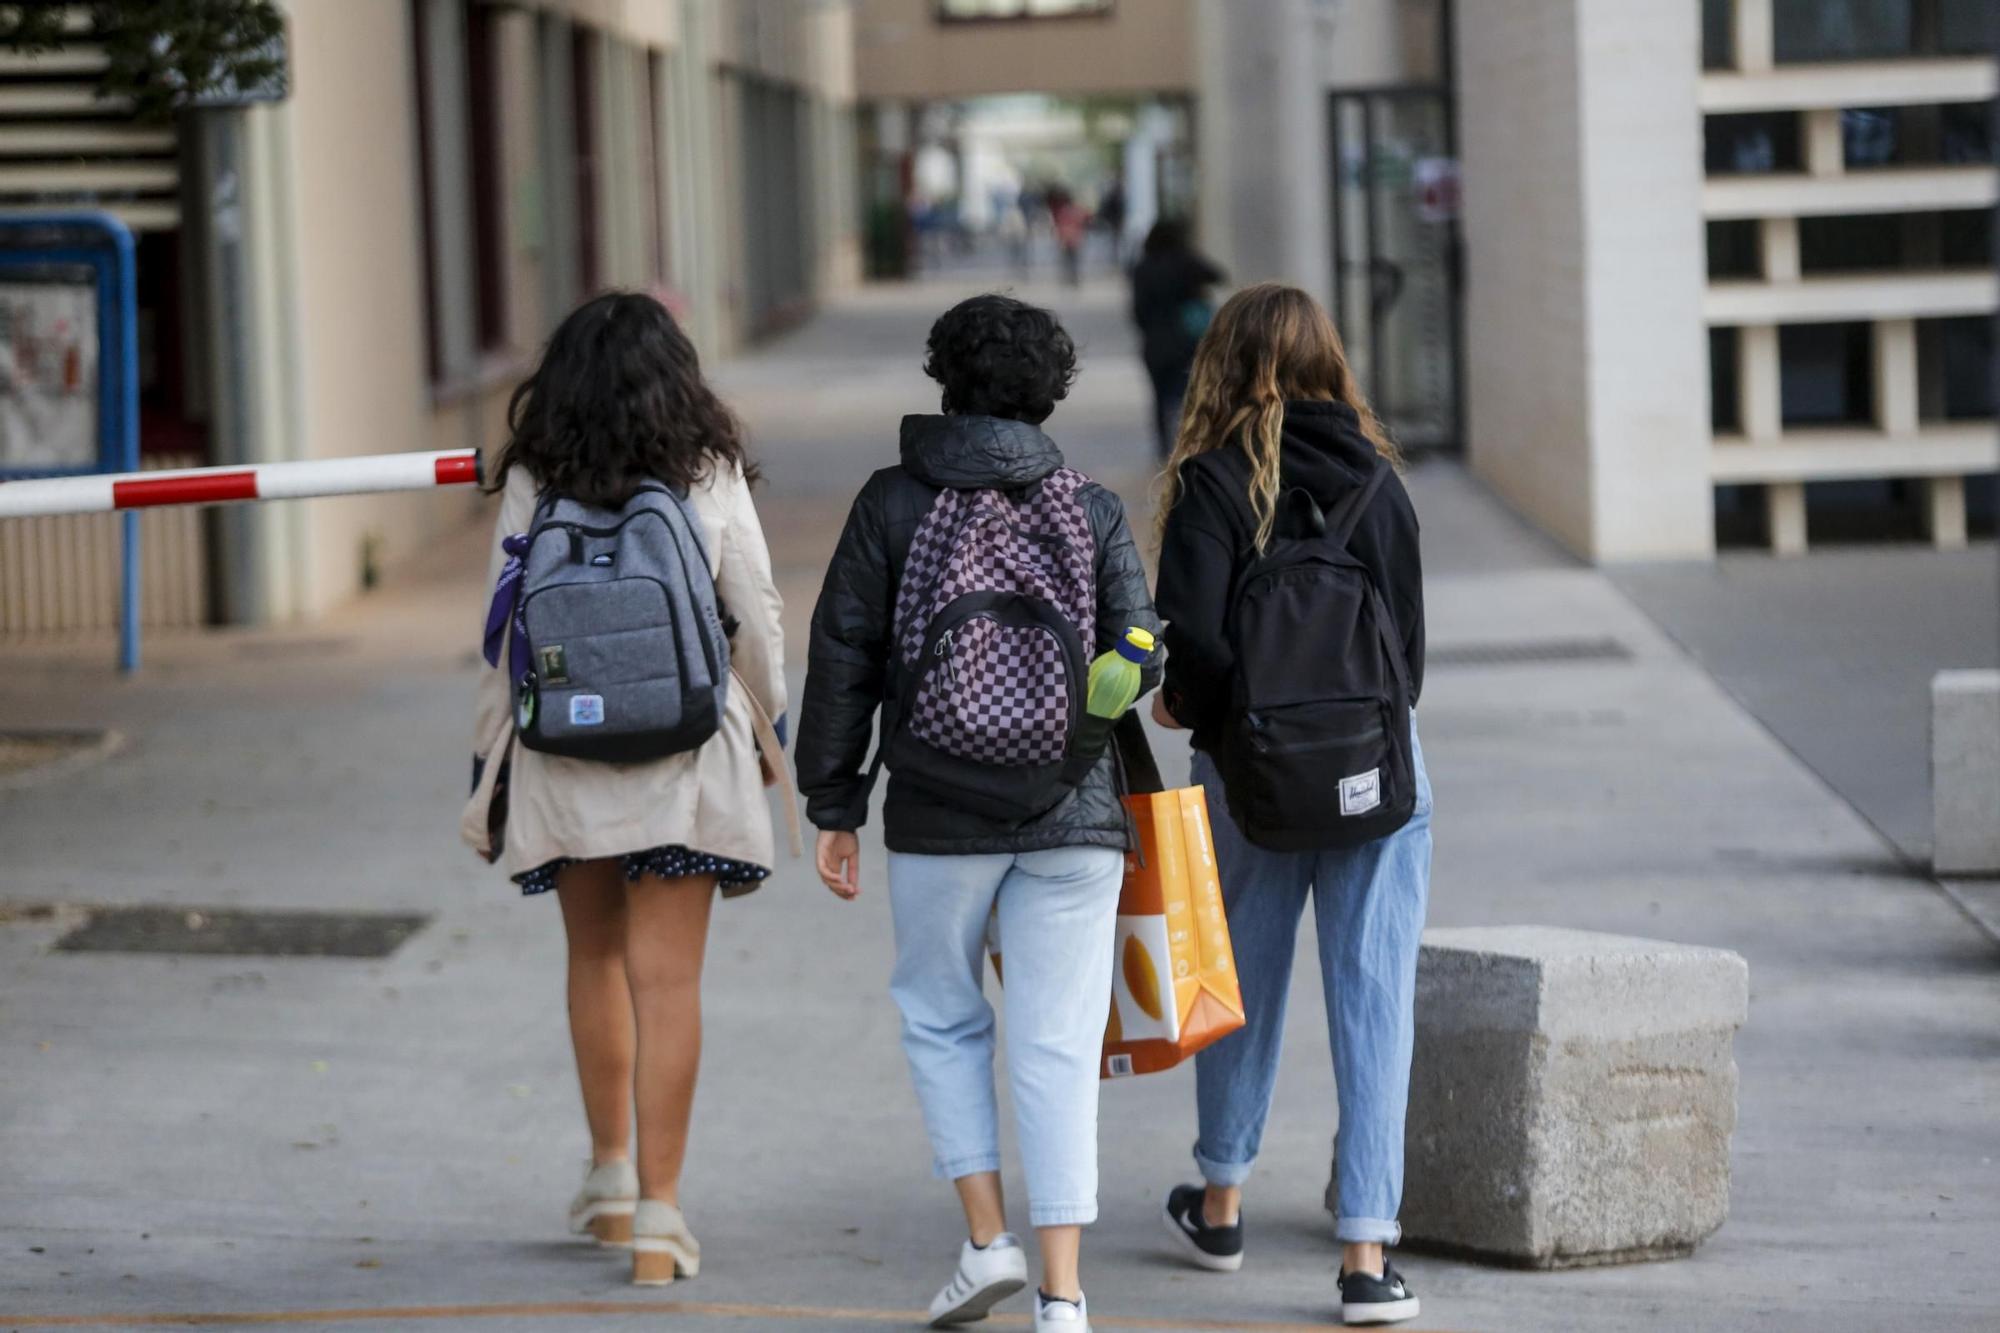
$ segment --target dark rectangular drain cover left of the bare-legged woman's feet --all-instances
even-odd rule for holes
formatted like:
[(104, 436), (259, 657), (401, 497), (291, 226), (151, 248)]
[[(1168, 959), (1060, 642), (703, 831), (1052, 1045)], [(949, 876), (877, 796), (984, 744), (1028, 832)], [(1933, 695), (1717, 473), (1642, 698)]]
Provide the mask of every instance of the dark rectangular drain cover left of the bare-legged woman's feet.
[(266, 959), (386, 959), (430, 917), (98, 907), (56, 941), (62, 953), (212, 953)]

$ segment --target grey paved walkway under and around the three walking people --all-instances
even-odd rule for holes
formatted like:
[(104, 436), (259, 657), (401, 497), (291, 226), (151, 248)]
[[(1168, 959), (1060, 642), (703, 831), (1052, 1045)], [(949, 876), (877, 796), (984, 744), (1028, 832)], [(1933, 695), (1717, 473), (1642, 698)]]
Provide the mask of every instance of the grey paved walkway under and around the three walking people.
[[(1086, 346), (1050, 426), (1138, 500), (1118, 296), (1050, 298)], [(794, 634), (846, 494), (892, 456), (896, 416), (934, 400), (916, 366), (944, 300), (868, 292), (722, 370), (770, 470)], [(1412, 1255), (1418, 1327), (1992, 1327), (1988, 939), (1604, 576), (1454, 466), (1410, 486), (1440, 656), (1422, 709), (1434, 923), (1722, 945), (1752, 985), (1730, 1223), (1666, 1265)], [(928, 1179), (896, 1047), (876, 843), (858, 905), (786, 863), (716, 913), (686, 1183), (702, 1277), (636, 1293), (562, 1237), (584, 1137), (554, 905), (512, 897), (454, 837), (480, 542), (306, 630), (156, 640), (136, 683), (96, 650), (0, 662), (0, 727), (126, 737), (92, 769), (0, 791), (0, 1329), (908, 1327), (946, 1275), (956, 1209)], [(1444, 664), (1594, 636), (1630, 658)], [(436, 919), (380, 963), (50, 953), (86, 903)], [(1326, 1325), (1332, 1077), (1310, 965), (1298, 987), (1240, 1275), (1174, 1267), (1158, 1239), (1160, 1199), (1190, 1175), (1188, 1077), (1106, 1089), (1086, 1263), (1104, 1327)]]

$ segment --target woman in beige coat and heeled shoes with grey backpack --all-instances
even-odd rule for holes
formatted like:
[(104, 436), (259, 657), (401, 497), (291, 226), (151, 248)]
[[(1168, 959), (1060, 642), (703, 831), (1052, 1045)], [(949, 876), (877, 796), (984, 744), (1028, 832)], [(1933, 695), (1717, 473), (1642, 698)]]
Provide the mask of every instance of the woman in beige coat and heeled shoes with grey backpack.
[[(494, 474), (500, 594), (488, 616), (492, 669), (478, 681), (464, 835), (488, 861), (504, 859), (522, 893), (554, 891), (562, 905), (570, 1039), (590, 1127), (570, 1225), (634, 1247), (632, 1281), (658, 1285), (700, 1269), (680, 1213), (680, 1169), (702, 1049), (708, 913), (718, 889), (750, 893), (772, 867), (762, 789), (784, 767), (780, 600), (742, 432), (660, 302), (608, 294), (570, 314), (514, 392), (508, 426)], [(592, 524), (552, 524), (554, 504), (606, 512)], [(636, 516), (620, 522), (610, 510)], [(670, 594), (650, 568), (592, 576), (614, 560), (668, 560), (690, 588), (712, 578), (714, 636), (658, 606)], [(520, 584), (550, 568), (558, 582), (548, 592), (530, 586), (518, 602)], [(630, 628), (586, 634), (606, 614), (626, 616), (612, 630)], [(562, 638), (536, 638), (530, 658), (530, 624)], [(724, 632), (724, 660), (698, 660)], [(666, 658), (658, 640), (668, 642)], [(620, 642), (652, 646), (634, 656)], [(656, 703), (614, 689), (658, 675), (676, 652), (682, 685), (704, 687), (712, 735), (678, 753), (628, 739), (638, 747), (630, 763), (574, 757), (598, 729), (620, 725), (614, 711)], [(602, 693), (562, 689), (592, 679), (606, 681)], [(686, 709), (668, 713), (684, 721)]]

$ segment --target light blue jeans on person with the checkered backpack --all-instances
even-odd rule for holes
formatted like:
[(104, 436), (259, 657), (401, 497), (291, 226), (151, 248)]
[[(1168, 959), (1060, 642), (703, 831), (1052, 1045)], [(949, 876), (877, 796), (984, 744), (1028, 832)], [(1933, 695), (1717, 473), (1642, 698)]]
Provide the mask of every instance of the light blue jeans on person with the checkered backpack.
[(1110, 847), (888, 857), (890, 995), (932, 1167), (948, 1181), (1000, 1169), (986, 1003), (986, 919), (1000, 909), (1008, 1083), (1036, 1227), (1098, 1217), (1098, 1061), (1122, 881), (1124, 853)]

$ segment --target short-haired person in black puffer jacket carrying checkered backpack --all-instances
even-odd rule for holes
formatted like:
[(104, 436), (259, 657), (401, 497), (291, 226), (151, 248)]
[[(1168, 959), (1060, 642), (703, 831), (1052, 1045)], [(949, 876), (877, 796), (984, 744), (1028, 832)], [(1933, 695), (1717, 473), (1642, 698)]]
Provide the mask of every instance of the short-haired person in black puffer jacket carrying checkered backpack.
[[(1118, 496), (1040, 430), (1076, 372), (1054, 316), (974, 296), (932, 326), (924, 370), (944, 386), (944, 414), (904, 418), (902, 462), (862, 486), (812, 612), (800, 787), (820, 879), (852, 899), (880, 705), (890, 993), (932, 1163), (968, 1231), (932, 1325), (982, 1319), (1028, 1281), (1000, 1195), (992, 919), (1042, 1249), (1034, 1327), (1088, 1333), (1078, 1251), (1098, 1215), (1126, 819), (1102, 733), (1092, 749), (1078, 731), (1076, 687), (1094, 652), (1158, 618)], [(1156, 681), (1148, 666), (1142, 687)]]

